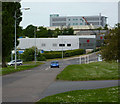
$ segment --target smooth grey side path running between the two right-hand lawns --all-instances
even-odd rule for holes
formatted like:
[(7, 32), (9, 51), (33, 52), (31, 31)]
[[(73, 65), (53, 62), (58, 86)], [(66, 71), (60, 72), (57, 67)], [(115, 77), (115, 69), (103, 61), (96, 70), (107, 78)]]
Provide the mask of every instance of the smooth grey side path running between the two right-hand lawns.
[(46, 96), (81, 89), (97, 89), (118, 86), (118, 80), (101, 81), (56, 81), (52, 83), (42, 94), (41, 98)]

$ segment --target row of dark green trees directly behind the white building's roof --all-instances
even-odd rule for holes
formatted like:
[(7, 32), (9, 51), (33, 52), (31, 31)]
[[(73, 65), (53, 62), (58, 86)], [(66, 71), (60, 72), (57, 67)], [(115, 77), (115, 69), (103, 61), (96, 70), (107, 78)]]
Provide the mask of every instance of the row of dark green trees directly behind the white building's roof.
[[(21, 28), (19, 30), (21, 31)], [(74, 30), (72, 28), (47, 30), (47, 28), (43, 26), (40, 26), (37, 29), (36, 26), (28, 25), (23, 31), (21, 31), (21, 36), (27, 36), (29, 38), (34, 38), (34, 34), (36, 34), (36, 38), (52, 38), (58, 37), (58, 35), (73, 35)]]

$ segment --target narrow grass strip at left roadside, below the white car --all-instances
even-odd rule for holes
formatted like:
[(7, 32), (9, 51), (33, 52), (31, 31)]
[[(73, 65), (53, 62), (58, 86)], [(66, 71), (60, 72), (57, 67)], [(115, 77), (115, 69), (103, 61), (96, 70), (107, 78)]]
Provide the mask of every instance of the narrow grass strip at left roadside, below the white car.
[(6, 74), (10, 74), (10, 73), (15, 73), (15, 72), (18, 72), (18, 71), (28, 70), (28, 69), (37, 67), (37, 66), (39, 66), (43, 63), (37, 62), (35, 64), (35, 62), (25, 62), (23, 64), (28, 64), (28, 65), (17, 66), (17, 69), (15, 69), (15, 66), (8, 66), (6, 68), (1, 68), (0, 69), (0, 75), (6, 75)]

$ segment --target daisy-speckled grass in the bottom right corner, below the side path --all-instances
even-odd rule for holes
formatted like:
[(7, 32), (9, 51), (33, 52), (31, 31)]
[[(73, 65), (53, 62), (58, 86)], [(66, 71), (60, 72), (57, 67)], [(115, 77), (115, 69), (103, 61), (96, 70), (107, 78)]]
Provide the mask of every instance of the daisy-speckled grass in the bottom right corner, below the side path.
[(45, 97), (36, 104), (41, 102), (118, 102), (118, 98), (118, 87), (109, 87), (60, 93)]

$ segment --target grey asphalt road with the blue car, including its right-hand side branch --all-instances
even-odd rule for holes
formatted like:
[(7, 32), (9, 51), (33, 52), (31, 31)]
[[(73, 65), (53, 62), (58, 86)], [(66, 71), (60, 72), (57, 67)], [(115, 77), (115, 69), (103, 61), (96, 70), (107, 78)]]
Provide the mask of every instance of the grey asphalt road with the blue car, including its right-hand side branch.
[[(93, 56), (95, 57), (96, 55), (93, 54)], [(93, 56), (90, 58), (91, 61), (93, 61)], [(55, 81), (57, 74), (59, 74), (67, 65), (79, 64), (79, 58), (64, 59), (59, 60), (59, 62), (60, 68), (50, 68), (50, 62), (46, 62), (45, 64), (30, 70), (3, 76), (3, 102), (22, 102), (21, 104), (23, 104), (23, 102), (36, 102), (47, 95), (64, 91), (118, 85), (117, 81)], [(82, 63), (84, 63), (84, 59), (82, 59)]]

